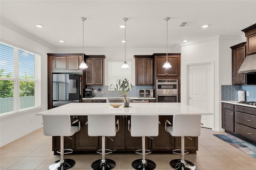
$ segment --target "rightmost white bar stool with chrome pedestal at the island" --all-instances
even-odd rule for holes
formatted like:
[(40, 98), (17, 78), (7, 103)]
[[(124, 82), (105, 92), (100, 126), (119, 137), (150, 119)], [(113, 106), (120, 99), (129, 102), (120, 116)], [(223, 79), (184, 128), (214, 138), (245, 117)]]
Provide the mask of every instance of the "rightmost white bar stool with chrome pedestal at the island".
[[(166, 120), (168, 124), (170, 122)], [(165, 123), (166, 125), (166, 123)], [(165, 130), (172, 136), (181, 136), (181, 158), (170, 161), (170, 166), (176, 170), (195, 170), (196, 166), (184, 160), (185, 145), (184, 136), (200, 136), (201, 133), (201, 115), (199, 114), (174, 114), (172, 126), (165, 126)]]

